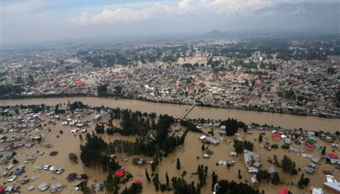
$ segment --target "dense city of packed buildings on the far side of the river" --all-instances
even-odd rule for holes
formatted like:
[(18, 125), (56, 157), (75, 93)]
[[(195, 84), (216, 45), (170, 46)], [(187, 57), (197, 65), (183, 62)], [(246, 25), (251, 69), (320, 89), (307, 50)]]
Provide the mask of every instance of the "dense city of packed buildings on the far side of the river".
[(0, 95), (198, 102), (339, 118), (339, 40), (269, 44), (230, 38), (8, 52)]

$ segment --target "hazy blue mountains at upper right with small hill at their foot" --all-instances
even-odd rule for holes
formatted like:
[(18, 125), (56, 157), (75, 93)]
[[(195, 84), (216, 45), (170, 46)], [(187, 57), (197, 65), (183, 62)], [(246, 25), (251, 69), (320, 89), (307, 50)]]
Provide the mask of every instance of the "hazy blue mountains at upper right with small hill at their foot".
[(340, 33), (340, 3), (282, 3), (257, 9), (250, 16), (237, 17), (234, 21), (226, 18), (225, 21), (224, 29), (230, 29), (231, 33), (213, 30), (202, 37), (231, 37), (233, 28), (249, 29), (249, 32), (255, 29), (257, 32)]

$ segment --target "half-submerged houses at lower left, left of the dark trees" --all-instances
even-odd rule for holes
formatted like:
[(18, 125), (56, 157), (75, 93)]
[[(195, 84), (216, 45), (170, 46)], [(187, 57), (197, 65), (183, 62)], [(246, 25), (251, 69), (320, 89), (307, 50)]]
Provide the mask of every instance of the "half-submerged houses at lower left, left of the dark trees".
[[(14, 111), (13, 109), (6, 109), (7, 113), (10, 114)], [(58, 116), (59, 117), (59, 116)], [(32, 113), (29, 109), (21, 109), (20, 113), (17, 116), (1, 117), (1, 126), (0, 126), (0, 152), (7, 152), (0, 158), (0, 164), (6, 164), (10, 161), (16, 161), (18, 153), (16, 150), (20, 147), (31, 148), (34, 145), (44, 141), (42, 132), (50, 132), (51, 129), (42, 126), (41, 122), (44, 122), (45, 119), (50, 119), (48, 123), (53, 124), (56, 119), (56, 116), (53, 115), (52, 112), (47, 114), (42, 113)], [(67, 117), (71, 118), (71, 117)], [(46, 148), (51, 148), (52, 145), (47, 144), (40, 144)], [(51, 152), (52, 153), (52, 152)], [(38, 155), (43, 155), (44, 152), (37, 152), (35, 154), (26, 153), (25, 163), (33, 161), (38, 157)], [(14, 170), (13, 170), (14, 169)], [(40, 165), (37, 166), (38, 170), (46, 170), (50, 171), (53, 174), (59, 175), (64, 172), (64, 169), (57, 166), (52, 165)], [(6, 178), (6, 182), (12, 183), (17, 180), (20, 176), (25, 173), (25, 164), (20, 164), (15, 167), (14, 164), (10, 163), (5, 168), (4, 172), (1, 172), (1, 177)], [(23, 178), (19, 179), (20, 184), (26, 184), (30, 181), (35, 181), (37, 179), (36, 176), (29, 178), (28, 176), (24, 176)], [(50, 190), (51, 193), (55, 193), (61, 191), (65, 186), (60, 183), (50, 185), (47, 182), (41, 183), (37, 188), (40, 191)], [(33, 191), (34, 186), (30, 185), (28, 187), (28, 191)], [(5, 193), (16, 193), (20, 192), (20, 186), (16, 186), (15, 184), (7, 185), (5, 187), (0, 188), (1, 192)], [(0, 193), (1, 193), (0, 192)]]

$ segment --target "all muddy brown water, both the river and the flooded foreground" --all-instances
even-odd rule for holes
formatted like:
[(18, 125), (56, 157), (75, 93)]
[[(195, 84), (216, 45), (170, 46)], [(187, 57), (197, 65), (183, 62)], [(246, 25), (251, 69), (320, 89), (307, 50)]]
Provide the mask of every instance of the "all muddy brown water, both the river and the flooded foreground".
[[(25, 99), (25, 100), (1, 100), (1, 105), (15, 105), (15, 104), (41, 104), (44, 103), (46, 105), (55, 105), (56, 103), (68, 103), (73, 102), (75, 100), (83, 101), (85, 104), (90, 106), (108, 106), (108, 107), (119, 107), (121, 109), (131, 109), (132, 111), (141, 111), (141, 112), (155, 112), (157, 114), (164, 114), (168, 113), (174, 115), (176, 117), (180, 117), (182, 113), (186, 111), (189, 106), (183, 105), (172, 105), (172, 104), (157, 104), (157, 103), (150, 103), (150, 102), (143, 102), (137, 100), (114, 100), (109, 98), (93, 98), (93, 97), (72, 97), (72, 98), (42, 98), (42, 99)], [(91, 120), (91, 118), (96, 113), (87, 114), (84, 120)], [(60, 120), (55, 120), (55, 124), (50, 123), (51, 121), (48, 117), (44, 117), (44, 121), (41, 122), (42, 125), (46, 124), (46, 127), (50, 128), (50, 132), (32, 130), (33, 133), (39, 133), (43, 136), (43, 141), (40, 143), (35, 143), (33, 147), (20, 147), (16, 150), (18, 153), (17, 160), (19, 161), (18, 164), (15, 164), (17, 167), (23, 162), (26, 161), (27, 154), (36, 154), (37, 158), (34, 162), (26, 163), (25, 173), (20, 175), (13, 183), (7, 183), (7, 185), (20, 185), (21, 190), (27, 192), (28, 187), (34, 186), (35, 189), (32, 192), (33, 194), (41, 193), (38, 191), (37, 186), (42, 182), (48, 182), (50, 185), (55, 183), (61, 183), (65, 186), (64, 190), (59, 193), (63, 194), (74, 194), (80, 193), (76, 192), (73, 189), (73, 185), (78, 183), (80, 180), (73, 180), (68, 181), (67, 176), (70, 173), (85, 173), (88, 175), (88, 185), (92, 185), (96, 182), (103, 182), (106, 180), (106, 176), (108, 175), (107, 172), (102, 172), (101, 168), (94, 169), (94, 168), (87, 168), (84, 167), (83, 163), (80, 159), (80, 145), (84, 144), (86, 140), (82, 141), (79, 138), (79, 134), (85, 138), (85, 133), (81, 133), (80, 131), (76, 133), (71, 133), (70, 131), (74, 129), (74, 126), (69, 125), (62, 125), (63, 120), (66, 119), (68, 113), (61, 115)], [(266, 116), (267, 115), (267, 116)], [(336, 119), (326, 119), (326, 118), (318, 118), (318, 117), (304, 117), (304, 116), (296, 116), (296, 115), (289, 115), (289, 114), (273, 114), (273, 113), (260, 113), (260, 112), (250, 112), (250, 111), (238, 111), (238, 110), (226, 110), (226, 109), (216, 109), (216, 108), (204, 108), (204, 107), (195, 107), (191, 113), (189, 113), (190, 118), (198, 118), (204, 117), (206, 119), (225, 119), (227, 117), (234, 117), (242, 120), (246, 123), (251, 122), (259, 122), (256, 121), (257, 119), (262, 119), (261, 122), (270, 124), (270, 122), (275, 125), (276, 122), (282, 123), (277, 124), (281, 127), (291, 127), (291, 128), (298, 128), (298, 126), (305, 125), (312, 127), (311, 123), (317, 122), (318, 125), (324, 125), (328, 130), (334, 129), (334, 125), (339, 122)], [(276, 119), (276, 120), (275, 120)], [(289, 122), (291, 119), (293, 122)], [(103, 116), (103, 118), (99, 122), (107, 122), (108, 117)], [(284, 121), (286, 121), (286, 125), (283, 125)], [(328, 122), (330, 121), (330, 122)], [(1, 123), (0, 123), (1, 124)], [(114, 119), (113, 124), (116, 127), (119, 127), (120, 120)], [(316, 124), (315, 124), (316, 125)], [(87, 132), (92, 133), (95, 130), (95, 123), (92, 123), (87, 129)], [(105, 126), (106, 129), (107, 126)], [(180, 126), (178, 123), (171, 126), (172, 131), (179, 130), (184, 132), (185, 128)], [(233, 140), (237, 139), (238, 137), (246, 139), (254, 143), (254, 150), (256, 154), (260, 155), (260, 162), (262, 163), (262, 170), (268, 170), (270, 167), (274, 167), (275, 170), (279, 173), (280, 179), (283, 182), (281, 185), (272, 185), (266, 183), (266, 181), (262, 181), (259, 184), (258, 189), (264, 190), (266, 194), (276, 194), (280, 188), (287, 188), (294, 194), (303, 194), (309, 193), (308, 189), (310, 186), (314, 187), (323, 187), (323, 182), (326, 181), (325, 175), (323, 174), (323, 170), (334, 170), (334, 177), (340, 180), (340, 173), (339, 170), (335, 170), (335, 166), (331, 164), (326, 164), (324, 162), (324, 156), (318, 151), (305, 151), (305, 153), (312, 154), (314, 157), (320, 158), (321, 162), (317, 165), (316, 172), (314, 174), (307, 174), (305, 172), (305, 168), (310, 162), (309, 159), (304, 158), (301, 154), (294, 153), (290, 151), (290, 149), (282, 149), (280, 148), (283, 145), (282, 140), (273, 140), (271, 137), (271, 132), (267, 131), (263, 137), (263, 142), (269, 142), (270, 145), (277, 144), (279, 148), (272, 149), (271, 151), (263, 148), (263, 145), (259, 144), (257, 139), (259, 136), (259, 132), (254, 130), (254, 134), (246, 134), (243, 129), (238, 129), (238, 134), (234, 136), (220, 136), (219, 131), (220, 128), (216, 127), (203, 127), (202, 130), (207, 133), (213, 129), (215, 138), (222, 140), (219, 145), (209, 145), (209, 149), (213, 151), (213, 154), (210, 156), (209, 159), (203, 158), (203, 151), (201, 149), (202, 142), (199, 140), (199, 137), (202, 135), (201, 133), (191, 132), (189, 131), (186, 136), (186, 140), (183, 146), (176, 147), (166, 158), (163, 158), (159, 165), (156, 167), (154, 173), (159, 174), (159, 181), (160, 183), (166, 182), (166, 173), (168, 172), (169, 177), (181, 177), (183, 171), (187, 172), (187, 175), (184, 177), (188, 183), (194, 181), (195, 184), (199, 182), (199, 178), (195, 175), (197, 171), (198, 165), (203, 164), (204, 166), (208, 167), (208, 177), (206, 178), (206, 185), (201, 189), (202, 194), (212, 194), (211, 191), (211, 184), (212, 178), (211, 174), (213, 171), (218, 175), (218, 179), (227, 179), (227, 180), (235, 180), (237, 182), (246, 182), (250, 184), (252, 174), (248, 173), (248, 169), (245, 166), (245, 162), (243, 159), (243, 154), (239, 154), (237, 157), (230, 156), (230, 152), (234, 151), (233, 147)], [(308, 128), (307, 128), (308, 129)], [(314, 126), (314, 129), (315, 126)], [(60, 133), (60, 130), (63, 133)], [(169, 135), (172, 132), (169, 133)], [(16, 133), (7, 133), (8, 135), (16, 135)], [(128, 141), (135, 141), (136, 136), (122, 136), (119, 134), (114, 135), (107, 135), (99, 134), (102, 139), (109, 143), (115, 139), (120, 140), (128, 140)], [(24, 141), (22, 141), (24, 143)], [(51, 148), (46, 148), (45, 145), (50, 143), (52, 145)], [(319, 142), (322, 146), (327, 147), (327, 153), (334, 152), (340, 155), (340, 151), (338, 150), (331, 150), (331, 144), (325, 141)], [(204, 145), (208, 146), (208, 145)], [(304, 145), (297, 145), (293, 143), (291, 147), (302, 147)], [(56, 156), (50, 156), (49, 154), (51, 151), (58, 151)], [(39, 155), (39, 152), (45, 152), (43, 155)], [(5, 151), (3, 154), (7, 154), (8, 152)], [(71, 162), (68, 158), (69, 153), (75, 153), (78, 156), (78, 163)], [(283, 172), (281, 168), (276, 167), (274, 164), (268, 162), (268, 159), (273, 159), (274, 155), (277, 156), (278, 161), (281, 161), (285, 155), (287, 155), (292, 161), (296, 162), (296, 169), (300, 169), (298, 175), (289, 175)], [(153, 158), (146, 157), (144, 155), (126, 155), (126, 154), (117, 154), (116, 161), (122, 165), (126, 171), (130, 172), (133, 175), (132, 181), (128, 181), (126, 184), (120, 184), (120, 192), (124, 189), (125, 186), (129, 187), (134, 180), (141, 180), (143, 184), (142, 194), (153, 194), (156, 193), (153, 183), (148, 183), (145, 177), (145, 168), (148, 169), (149, 174), (152, 174), (151, 165), (149, 163), (145, 164), (144, 166), (138, 166), (132, 163), (134, 158), (144, 159), (146, 161), (152, 161)], [(181, 169), (176, 169), (176, 159), (179, 158), (181, 162)], [(128, 159), (128, 161), (126, 161)], [(217, 165), (220, 161), (228, 161), (233, 160), (235, 161), (234, 166), (230, 166), (228, 169), (226, 165)], [(11, 162), (12, 163), (12, 162)], [(57, 167), (61, 167), (65, 169), (65, 171), (60, 174), (52, 174), (48, 170), (38, 170), (37, 167), (42, 164), (49, 164)], [(8, 164), (7, 164), (8, 165)], [(5, 168), (7, 165), (1, 165), (0, 171), (5, 172)], [(238, 170), (241, 171), (242, 178), (238, 178)], [(296, 185), (299, 181), (301, 174), (304, 173), (305, 177), (310, 178), (310, 183), (308, 187), (301, 190)], [(33, 176), (37, 176), (38, 179), (35, 181), (30, 181), (24, 185), (19, 183), (20, 179), (23, 176), (28, 176), (29, 178)], [(153, 178), (153, 177), (151, 177)], [(7, 178), (1, 178), (1, 182), (5, 182)], [(105, 189), (101, 192), (97, 192), (104, 194)], [(173, 192), (165, 192), (172, 194)], [(326, 193), (328, 194), (328, 193)]]

